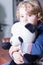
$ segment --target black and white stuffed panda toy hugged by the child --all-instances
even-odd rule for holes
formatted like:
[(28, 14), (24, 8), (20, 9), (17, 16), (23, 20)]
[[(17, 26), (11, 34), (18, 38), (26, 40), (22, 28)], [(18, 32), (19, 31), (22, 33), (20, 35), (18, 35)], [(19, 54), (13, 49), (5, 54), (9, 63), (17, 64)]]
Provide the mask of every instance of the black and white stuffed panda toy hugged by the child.
[[(11, 45), (20, 46), (21, 51), (24, 52), (24, 57), (23, 57), (24, 62), (26, 64), (33, 63), (34, 61), (40, 58), (39, 55), (28, 54), (29, 45), (31, 42), (34, 42), (34, 39), (36, 37), (35, 31), (36, 31), (36, 27), (30, 23), (16, 22), (11, 28), (12, 36), (10, 42), (3, 42), (2, 48), (6, 50), (9, 49)], [(13, 58), (10, 64), (12, 65), (15, 64)]]

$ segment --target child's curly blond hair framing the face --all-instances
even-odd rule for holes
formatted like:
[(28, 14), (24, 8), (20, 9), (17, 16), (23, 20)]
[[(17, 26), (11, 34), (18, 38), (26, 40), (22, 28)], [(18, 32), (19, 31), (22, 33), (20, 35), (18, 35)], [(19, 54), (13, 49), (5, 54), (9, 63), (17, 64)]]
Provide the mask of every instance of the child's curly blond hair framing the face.
[(20, 18), (19, 10), (22, 7), (25, 7), (27, 13), (37, 14), (38, 20), (40, 20), (43, 23), (43, 12), (38, 0), (29, 0), (20, 2), (16, 11), (16, 16), (18, 20)]

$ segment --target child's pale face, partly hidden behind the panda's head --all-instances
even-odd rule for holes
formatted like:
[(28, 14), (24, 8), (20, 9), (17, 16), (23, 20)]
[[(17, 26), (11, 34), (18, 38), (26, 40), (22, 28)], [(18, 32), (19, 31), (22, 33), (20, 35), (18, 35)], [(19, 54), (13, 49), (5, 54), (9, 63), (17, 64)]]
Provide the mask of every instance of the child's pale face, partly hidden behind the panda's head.
[(20, 22), (27, 22), (33, 25), (37, 24), (37, 15), (27, 13), (25, 8), (20, 8)]

